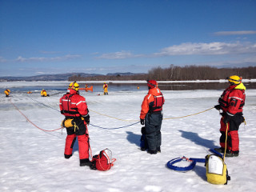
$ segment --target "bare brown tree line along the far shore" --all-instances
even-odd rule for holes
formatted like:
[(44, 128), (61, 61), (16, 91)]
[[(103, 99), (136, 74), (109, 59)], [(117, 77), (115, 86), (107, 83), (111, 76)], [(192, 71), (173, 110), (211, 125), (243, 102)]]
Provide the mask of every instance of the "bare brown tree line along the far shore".
[(69, 81), (128, 81), (128, 80), (148, 80), (157, 81), (190, 81), (190, 80), (218, 80), (225, 79), (231, 75), (238, 75), (242, 78), (256, 78), (256, 66), (239, 68), (217, 68), (213, 66), (174, 66), (168, 68), (160, 66), (148, 71), (147, 74), (133, 75), (97, 75), (92, 77), (81, 77), (74, 75)]

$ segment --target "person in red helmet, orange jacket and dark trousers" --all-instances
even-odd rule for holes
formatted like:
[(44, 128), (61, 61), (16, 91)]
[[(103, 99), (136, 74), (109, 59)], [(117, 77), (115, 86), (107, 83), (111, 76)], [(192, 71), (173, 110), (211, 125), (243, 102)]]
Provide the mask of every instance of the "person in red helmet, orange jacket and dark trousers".
[(158, 82), (147, 81), (147, 86), (149, 92), (142, 102), (140, 120), (142, 125), (145, 124), (146, 141), (149, 148), (147, 152), (157, 154), (161, 152), (162, 105), (165, 99), (158, 88)]

